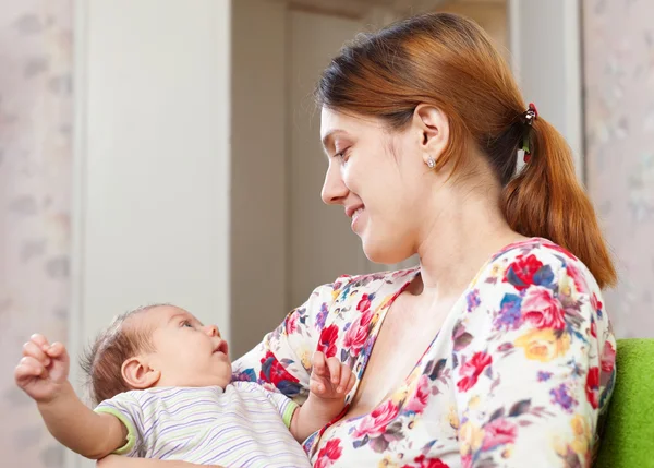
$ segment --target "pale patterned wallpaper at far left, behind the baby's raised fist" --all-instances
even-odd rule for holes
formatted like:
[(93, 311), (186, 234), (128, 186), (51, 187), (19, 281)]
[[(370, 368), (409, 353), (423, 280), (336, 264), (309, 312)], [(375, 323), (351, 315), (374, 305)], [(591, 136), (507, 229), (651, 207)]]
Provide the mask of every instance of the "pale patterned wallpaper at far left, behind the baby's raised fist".
[(13, 384), (35, 331), (66, 338), (72, 0), (0, 0), (0, 465), (61, 467)]

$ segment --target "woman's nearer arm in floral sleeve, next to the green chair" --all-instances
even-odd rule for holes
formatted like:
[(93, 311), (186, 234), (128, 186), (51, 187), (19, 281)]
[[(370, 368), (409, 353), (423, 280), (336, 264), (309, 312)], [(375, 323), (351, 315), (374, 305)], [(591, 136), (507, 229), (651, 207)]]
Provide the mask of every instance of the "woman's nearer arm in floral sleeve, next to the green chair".
[(453, 332), (464, 467), (590, 467), (615, 340), (585, 266), (541, 247), (499, 259)]

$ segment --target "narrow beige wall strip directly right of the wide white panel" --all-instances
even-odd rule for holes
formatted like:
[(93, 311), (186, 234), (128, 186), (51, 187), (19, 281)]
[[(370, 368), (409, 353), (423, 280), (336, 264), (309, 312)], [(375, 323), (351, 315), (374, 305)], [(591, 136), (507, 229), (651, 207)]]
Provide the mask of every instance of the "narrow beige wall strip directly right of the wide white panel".
[(250, 350), (289, 308), (287, 17), (282, 2), (239, 0), (232, 5), (233, 356)]

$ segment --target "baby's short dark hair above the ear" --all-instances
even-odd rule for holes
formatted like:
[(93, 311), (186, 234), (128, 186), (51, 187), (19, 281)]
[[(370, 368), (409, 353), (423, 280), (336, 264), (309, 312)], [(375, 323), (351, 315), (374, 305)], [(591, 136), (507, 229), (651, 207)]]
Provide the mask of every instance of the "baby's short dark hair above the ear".
[(125, 322), (142, 312), (169, 304), (143, 305), (113, 319), (84, 352), (80, 363), (87, 376), (94, 405), (133, 389), (122, 376), (122, 364), (140, 352), (154, 351), (152, 331), (125, 326)]

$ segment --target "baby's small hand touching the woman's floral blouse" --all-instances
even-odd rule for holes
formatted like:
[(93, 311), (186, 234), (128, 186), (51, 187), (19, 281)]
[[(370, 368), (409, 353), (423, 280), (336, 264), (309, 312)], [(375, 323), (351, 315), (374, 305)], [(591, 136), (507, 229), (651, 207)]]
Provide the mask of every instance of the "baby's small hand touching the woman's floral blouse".
[(325, 355), (317, 351), (312, 364), (308, 389), (320, 398), (344, 398), (356, 383), (356, 375), (337, 358), (325, 359)]

